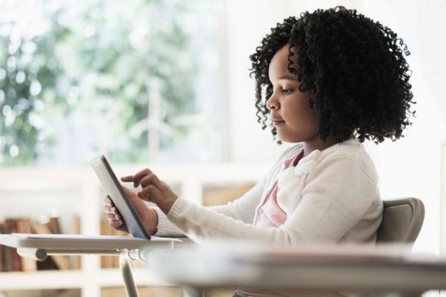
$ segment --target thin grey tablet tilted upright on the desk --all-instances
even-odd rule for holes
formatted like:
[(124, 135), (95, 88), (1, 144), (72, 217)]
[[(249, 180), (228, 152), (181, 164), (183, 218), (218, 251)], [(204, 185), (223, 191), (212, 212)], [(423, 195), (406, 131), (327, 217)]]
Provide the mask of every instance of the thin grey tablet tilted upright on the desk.
[(144, 228), (141, 218), (139, 218), (137, 211), (133, 208), (130, 199), (125, 195), (123, 188), (121, 188), (121, 183), (116, 178), (105, 156), (102, 155), (91, 160), (91, 166), (95, 170), (105, 192), (112, 199), (119, 213), (121, 213), (130, 234), (134, 237), (150, 239), (150, 234)]

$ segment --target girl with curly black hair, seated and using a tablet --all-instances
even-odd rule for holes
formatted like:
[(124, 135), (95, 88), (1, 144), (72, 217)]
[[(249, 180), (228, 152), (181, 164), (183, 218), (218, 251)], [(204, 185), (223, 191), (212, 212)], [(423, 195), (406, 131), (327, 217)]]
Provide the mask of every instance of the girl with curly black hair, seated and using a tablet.
[[(272, 135), (295, 143), (243, 197), (203, 207), (178, 197), (150, 169), (125, 188), (150, 234), (243, 238), (293, 247), (302, 242), (376, 241), (383, 211), (365, 139), (402, 137), (413, 94), (403, 40), (356, 10), (337, 6), (277, 24), (250, 59), (256, 115)], [(148, 208), (144, 201), (158, 208)], [(114, 229), (126, 230), (107, 198)]]

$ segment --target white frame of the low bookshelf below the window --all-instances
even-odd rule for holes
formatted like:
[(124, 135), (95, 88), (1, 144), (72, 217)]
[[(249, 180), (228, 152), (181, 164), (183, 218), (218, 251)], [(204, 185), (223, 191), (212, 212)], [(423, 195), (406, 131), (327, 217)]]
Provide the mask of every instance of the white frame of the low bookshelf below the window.
[[(178, 194), (198, 204), (215, 205), (235, 199), (268, 170), (269, 165), (215, 164), (149, 166)], [(114, 167), (118, 176), (132, 174), (144, 166)], [(0, 221), (6, 218), (36, 218), (48, 209), (60, 211), (63, 233), (75, 233), (72, 218), (79, 218), (81, 234), (100, 234), (103, 219), (102, 192), (98, 178), (89, 167), (82, 168), (1, 168)], [(213, 197), (215, 199), (213, 200)], [(60, 296), (114, 296), (123, 280), (118, 268), (101, 268), (99, 256), (82, 256), (76, 270), (0, 272), (0, 295), (6, 297), (45, 296), (36, 290), (73, 289)], [(134, 281), (144, 289), (169, 287), (144, 267), (135, 267)], [(24, 290), (24, 291), (22, 291)], [(53, 296), (53, 295), (52, 295)], [(54, 294), (54, 296), (59, 296)], [(116, 294), (118, 296), (118, 294)]]

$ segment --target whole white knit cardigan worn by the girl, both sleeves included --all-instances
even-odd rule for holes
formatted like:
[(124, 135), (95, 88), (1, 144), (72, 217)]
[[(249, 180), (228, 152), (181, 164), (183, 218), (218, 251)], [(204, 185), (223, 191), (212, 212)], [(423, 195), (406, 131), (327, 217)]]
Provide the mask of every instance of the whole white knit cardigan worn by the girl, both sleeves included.
[[(288, 148), (254, 188), (223, 206), (198, 206), (178, 197), (168, 215), (160, 209), (157, 236), (186, 234), (207, 238), (238, 238), (272, 245), (301, 242), (374, 242), (383, 213), (374, 163), (355, 139), (313, 151), (296, 167), (284, 167), (302, 149)], [(278, 228), (253, 225), (257, 208), (278, 181), (277, 201), (286, 212)], [(173, 224), (172, 224), (173, 223)]]

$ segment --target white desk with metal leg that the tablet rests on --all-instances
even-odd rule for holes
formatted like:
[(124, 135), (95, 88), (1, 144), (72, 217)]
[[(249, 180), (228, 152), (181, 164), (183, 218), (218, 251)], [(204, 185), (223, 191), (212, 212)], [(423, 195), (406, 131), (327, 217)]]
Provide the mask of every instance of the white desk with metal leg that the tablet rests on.
[(38, 261), (49, 255), (116, 255), (123, 275), (125, 291), (129, 297), (137, 297), (129, 259), (144, 261), (147, 252), (169, 250), (178, 238), (152, 237), (150, 241), (129, 236), (88, 236), (77, 234), (0, 234), (0, 244), (17, 248), (22, 257)]

